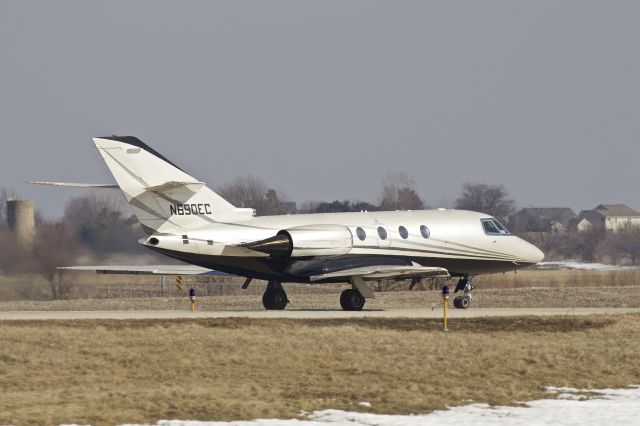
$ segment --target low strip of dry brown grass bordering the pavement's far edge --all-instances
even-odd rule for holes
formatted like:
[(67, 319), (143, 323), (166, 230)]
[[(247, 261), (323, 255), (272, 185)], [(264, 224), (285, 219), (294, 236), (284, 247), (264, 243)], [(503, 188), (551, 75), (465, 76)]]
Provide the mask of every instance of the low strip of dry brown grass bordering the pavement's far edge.
[[(340, 310), (341, 289), (323, 289), (308, 293), (302, 286), (285, 284), (291, 309)], [(300, 291), (296, 291), (300, 290)], [(262, 310), (261, 292), (256, 287), (248, 295), (198, 297), (200, 311)], [(198, 294), (202, 294), (199, 291)], [(367, 301), (365, 309), (415, 308), (429, 309), (440, 306), (440, 291), (393, 291), (377, 293)], [(472, 302), (473, 308), (572, 308), (572, 307), (640, 307), (638, 287), (563, 287), (563, 288), (507, 288), (495, 289), (478, 286)], [(57, 301), (0, 302), (0, 311), (89, 311), (89, 310), (188, 310), (189, 301), (181, 296), (123, 299), (74, 299)]]

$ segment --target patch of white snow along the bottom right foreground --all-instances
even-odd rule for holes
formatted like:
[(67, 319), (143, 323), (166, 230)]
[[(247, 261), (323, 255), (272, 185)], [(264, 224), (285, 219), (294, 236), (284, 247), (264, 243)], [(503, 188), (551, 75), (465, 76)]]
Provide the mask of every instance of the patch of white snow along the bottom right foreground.
[[(422, 415), (382, 415), (323, 410), (307, 414), (307, 420), (252, 420), (199, 422), (163, 420), (157, 426), (533, 426), (639, 424), (640, 386), (630, 389), (580, 391), (548, 388), (556, 399), (527, 402), (521, 407), (471, 404)], [(597, 395), (594, 395), (597, 392)]]

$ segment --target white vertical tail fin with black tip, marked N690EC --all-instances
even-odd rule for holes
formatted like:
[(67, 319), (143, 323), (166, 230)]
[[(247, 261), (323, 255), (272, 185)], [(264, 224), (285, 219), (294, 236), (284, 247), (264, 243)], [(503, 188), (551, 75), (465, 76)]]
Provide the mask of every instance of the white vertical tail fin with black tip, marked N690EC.
[(107, 136), (93, 142), (149, 235), (253, 216), (253, 209), (234, 207), (138, 138)]

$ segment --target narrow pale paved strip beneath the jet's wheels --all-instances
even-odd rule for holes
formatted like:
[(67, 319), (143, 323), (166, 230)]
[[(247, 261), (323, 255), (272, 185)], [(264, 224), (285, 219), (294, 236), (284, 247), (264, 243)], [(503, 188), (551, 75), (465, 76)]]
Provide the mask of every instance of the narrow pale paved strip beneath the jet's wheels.
[[(640, 313), (640, 308), (471, 308), (450, 309), (450, 318), (550, 315), (620, 315)], [(4, 311), (3, 320), (174, 319), (174, 318), (441, 318), (442, 309), (385, 309), (361, 312), (328, 310), (285, 311)]]

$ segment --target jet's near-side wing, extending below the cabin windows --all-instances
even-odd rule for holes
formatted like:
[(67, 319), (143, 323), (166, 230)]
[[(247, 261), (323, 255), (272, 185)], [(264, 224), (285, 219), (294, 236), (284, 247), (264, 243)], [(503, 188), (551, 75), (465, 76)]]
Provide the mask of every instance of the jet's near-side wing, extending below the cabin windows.
[(311, 281), (320, 281), (329, 278), (353, 278), (360, 277), (362, 279), (381, 279), (381, 278), (402, 278), (402, 277), (421, 277), (421, 278), (449, 278), (449, 271), (444, 268), (433, 266), (421, 266), (418, 264), (396, 266), (396, 265), (373, 265), (363, 266), (359, 268), (344, 269), (337, 272), (328, 272), (326, 274), (312, 275)]

